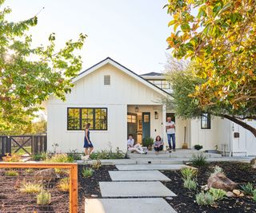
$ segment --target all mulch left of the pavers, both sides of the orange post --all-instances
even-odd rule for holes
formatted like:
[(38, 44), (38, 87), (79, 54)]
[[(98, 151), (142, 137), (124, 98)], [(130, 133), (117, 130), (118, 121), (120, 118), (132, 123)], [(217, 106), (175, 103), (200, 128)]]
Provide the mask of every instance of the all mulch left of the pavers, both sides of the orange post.
[[(83, 178), (82, 168), (90, 168), (90, 166), (78, 166), (78, 212), (84, 212), (85, 198), (101, 197), (99, 184), (100, 181), (111, 181), (108, 171), (117, 170), (115, 166), (102, 166), (98, 170), (94, 170), (93, 176)], [(5, 172), (0, 172), (0, 212), (56, 212), (66, 213), (69, 211), (69, 192), (58, 190), (58, 179), (51, 181), (47, 191), (51, 194), (50, 205), (38, 207), (36, 194), (26, 194), (20, 191), (20, 185), (23, 179), (26, 182), (33, 182), (34, 174), (38, 170), (33, 170), (30, 174), (19, 172), (20, 176), (7, 177)]]

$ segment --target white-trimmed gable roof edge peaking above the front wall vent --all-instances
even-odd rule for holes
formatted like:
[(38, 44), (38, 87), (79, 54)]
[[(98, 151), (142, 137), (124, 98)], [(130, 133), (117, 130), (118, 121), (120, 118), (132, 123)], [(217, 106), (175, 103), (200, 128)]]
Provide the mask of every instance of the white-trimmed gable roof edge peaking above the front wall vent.
[(110, 57), (106, 57), (106, 59), (104, 59), (102, 61), (99, 61), (96, 65), (93, 65), (90, 68), (84, 70), (82, 73), (80, 73), (78, 75), (78, 77), (74, 77), (72, 82), (74, 83), (75, 81), (80, 80), (82, 77), (85, 77), (86, 75), (88, 75), (90, 73), (93, 73), (96, 69), (99, 69), (103, 65), (107, 65), (107, 64), (113, 65), (117, 69), (122, 70), (122, 72), (128, 74), (130, 77), (134, 77), (136, 80), (140, 81), (142, 84), (150, 87), (151, 89), (154, 89), (154, 91), (156, 91), (156, 92), (158, 92), (158, 93), (160, 93), (162, 95), (165, 95), (165, 96), (166, 96), (166, 94), (170, 95), (165, 90), (160, 89), (158, 86), (152, 84), (150, 81), (146, 81), (146, 79), (144, 79), (143, 77), (139, 76), (137, 73), (134, 73), (132, 70), (126, 68), (124, 65), (119, 64), (117, 61), (114, 61)]

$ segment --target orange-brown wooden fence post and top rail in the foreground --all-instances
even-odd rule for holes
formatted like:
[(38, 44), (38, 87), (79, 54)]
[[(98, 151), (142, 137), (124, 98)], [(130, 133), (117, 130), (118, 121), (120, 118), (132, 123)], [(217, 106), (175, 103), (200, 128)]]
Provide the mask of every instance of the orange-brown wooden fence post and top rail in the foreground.
[(0, 168), (58, 168), (70, 174), (70, 213), (78, 212), (78, 164), (70, 163), (0, 163)]

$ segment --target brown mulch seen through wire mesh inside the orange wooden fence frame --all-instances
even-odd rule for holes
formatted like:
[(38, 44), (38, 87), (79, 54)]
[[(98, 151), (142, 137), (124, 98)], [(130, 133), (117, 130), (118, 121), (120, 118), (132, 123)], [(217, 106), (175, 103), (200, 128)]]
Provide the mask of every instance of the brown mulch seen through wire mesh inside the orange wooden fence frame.
[[(37, 194), (26, 194), (20, 191), (22, 182), (34, 183), (33, 170), (25, 175), (24, 170), (16, 170), (19, 176), (6, 176), (0, 172), (0, 212), (67, 212), (69, 209), (69, 192), (59, 191), (57, 184), (59, 179), (51, 180), (44, 184), (44, 188), (51, 194), (51, 203), (45, 206), (38, 206)], [(66, 176), (66, 175), (65, 175)], [(63, 176), (64, 177), (64, 176)], [(38, 182), (36, 182), (38, 183)]]

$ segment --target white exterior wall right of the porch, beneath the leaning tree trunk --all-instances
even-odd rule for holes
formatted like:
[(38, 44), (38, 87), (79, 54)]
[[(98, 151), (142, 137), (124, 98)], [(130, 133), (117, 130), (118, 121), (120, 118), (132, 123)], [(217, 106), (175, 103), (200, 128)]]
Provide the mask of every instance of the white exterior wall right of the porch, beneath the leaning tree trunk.
[[(247, 121), (256, 128), (256, 121)], [(215, 149), (231, 156), (256, 156), (256, 139), (254, 135), (228, 119), (214, 117), (211, 120), (211, 129), (201, 129), (201, 120), (190, 120), (189, 141), (191, 148), (201, 144), (204, 150)], [(234, 132), (239, 137), (234, 137)]]

